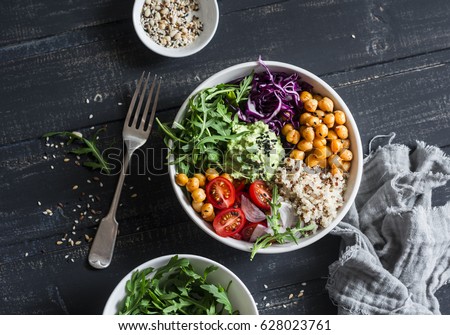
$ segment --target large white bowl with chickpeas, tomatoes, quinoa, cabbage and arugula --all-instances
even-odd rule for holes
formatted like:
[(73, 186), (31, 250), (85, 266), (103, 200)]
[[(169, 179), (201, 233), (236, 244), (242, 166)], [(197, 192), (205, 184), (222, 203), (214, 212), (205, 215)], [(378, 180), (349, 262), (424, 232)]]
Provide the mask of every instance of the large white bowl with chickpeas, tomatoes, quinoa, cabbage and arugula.
[(183, 209), (251, 258), (318, 241), (358, 192), (356, 122), (332, 87), (298, 66), (229, 67), (201, 83), (172, 124), (157, 122)]

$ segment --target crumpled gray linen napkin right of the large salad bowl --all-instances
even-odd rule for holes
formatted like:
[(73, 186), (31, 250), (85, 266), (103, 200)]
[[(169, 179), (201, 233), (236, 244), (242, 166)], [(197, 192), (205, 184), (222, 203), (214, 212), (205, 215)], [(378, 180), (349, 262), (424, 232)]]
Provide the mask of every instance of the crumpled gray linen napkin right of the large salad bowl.
[(332, 231), (342, 245), (327, 289), (339, 314), (440, 314), (450, 201), (432, 207), (431, 195), (448, 180), (450, 157), (423, 142), (411, 153), (389, 141), (364, 160), (355, 204)]

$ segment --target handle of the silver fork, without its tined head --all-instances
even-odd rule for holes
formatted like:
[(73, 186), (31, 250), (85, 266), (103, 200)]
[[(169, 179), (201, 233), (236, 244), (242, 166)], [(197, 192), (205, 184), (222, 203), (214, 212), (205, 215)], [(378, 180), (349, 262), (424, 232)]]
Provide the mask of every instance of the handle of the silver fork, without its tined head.
[(116, 191), (114, 193), (111, 207), (108, 214), (102, 219), (95, 234), (94, 242), (89, 251), (89, 264), (97, 269), (104, 269), (109, 266), (114, 253), (114, 245), (116, 244), (117, 231), (119, 224), (116, 221), (116, 211), (122, 192), (123, 181), (125, 180), (126, 171), (130, 158), (135, 149), (127, 150), (123, 157), (123, 166), (120, 170), (119, 180), (117, 182)]

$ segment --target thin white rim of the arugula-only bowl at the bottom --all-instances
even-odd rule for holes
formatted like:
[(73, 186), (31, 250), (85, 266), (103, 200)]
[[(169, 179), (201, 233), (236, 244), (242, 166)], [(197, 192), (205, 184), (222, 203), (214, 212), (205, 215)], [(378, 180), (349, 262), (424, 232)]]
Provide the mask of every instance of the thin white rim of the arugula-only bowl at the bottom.
[[(118, 300), (117, 300), (117, 296), (121, 295), (121, 291), (125, 288), (125, 285), (127, 283), (127, 281), (131, 278), (131, 275), (133, 274), (133, 272), (135, 272), (136, 270), (143, 270), (146, 269), (148, 267), (158, 267), (157, 264), (162, 263), (162, 264), (166, 264), (167, 262), (169, 262), (169, 260), (174, 257), (174, 256), (178, 256), (178, 258), (187, 258), (189, 260), (197, 260), (200, 262), (204, 262), (204, 263), (208, 263), (210, 265), (214, 265), (217, 266), (220, 270), (226, 272), (231, 278), (232, 278), (232, 285), (237, 284), (241, 287), (241, 289), (245, 292), (245, 294), (247, 295), (247, 298), (249, 300), (249, 302), (251, 303), (249, 306), (251, 306), (251, 310), (254, 314), (252, 315), (258, 315), (258, 308), (256, 307), (256, 303), (255, 300), (253, 299), (252, 294), (250, 293), (250, 291), (248, 290), (247, 286), (244, 284), (244, 282), (230, 269), (228, 269), (225, 265), (220, 264), (210, 258), (206, 258), (203, 256), (199, 256), (199, 255), (193, 255), (193, 254), (170, 254), (170, 255), (163, 255), (163, 256), (159, 256), (153, 259), (150, 259), (138, 266), (136, 266), (133, 270), (131, 270), (130, 272), (128, 272), (121, 280), (120, 282), (116, 285), (116, 287), (114, 288), (114, 290), (111, 292), (110, 296), (108, 297), (108, 300), (105, 304), (105, 307), (103, 308), (103, 315), (109, 315), (108, 310), (115, 310)], [(125, 297), (122, 297), (121, 299), (124, 299)], [(249, 315), (249, 314), (247, 314)]]

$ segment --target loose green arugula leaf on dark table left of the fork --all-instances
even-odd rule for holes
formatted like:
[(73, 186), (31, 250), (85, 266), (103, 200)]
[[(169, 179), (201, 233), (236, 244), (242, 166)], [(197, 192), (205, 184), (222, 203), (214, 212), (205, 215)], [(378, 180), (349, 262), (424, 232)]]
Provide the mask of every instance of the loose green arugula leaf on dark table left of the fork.
[(75, 155), (86, 155), (90, 157), (93, 160), (88, 160), (86, 162), (83, 162), (83, 165), (86, 167), (89, 167), (93, 170), (99, 169), (102, 172), (110, 173), (111, 168), (106, 161), (106, 159), (103, 157), (102, 153), (97, 147), (97, 136), (101, 131), (104, 131), (105, 128), (99, 129), (94, 136), (92, 136), (91, 139), (86, 139), (83, 136), (80, 136), (81, 134), (77, 132), (70, 132), (70, 131), (54, 131), (45, 133), (42, 135), (42, 137), (53, 137), (53, 136), (62, 136), (65, 138), (68, 138), (67, 144), (72, 144), (73, 142), (78, 142), (81, 147), (75, 148), (69, 151), (72, 154)]

